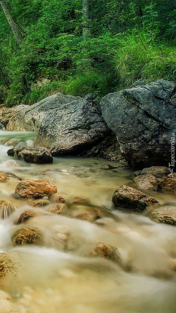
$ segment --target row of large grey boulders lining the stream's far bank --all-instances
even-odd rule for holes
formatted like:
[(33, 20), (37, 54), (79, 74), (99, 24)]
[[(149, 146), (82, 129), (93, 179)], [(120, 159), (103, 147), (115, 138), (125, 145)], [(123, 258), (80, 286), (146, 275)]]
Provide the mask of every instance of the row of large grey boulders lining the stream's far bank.
[[(140, 80), (129, 89), (106, 95), (100, 104), (97, 94), (80, 98), (58, 93), (31, 106), (5, 109), (1, 123), (6, 130), (38, 132), (35, 148), (10, 149), (8, 154), (40, 164), (51, 163), (52, 156), (61, 154), (91, 156), (88, 149), (96, 146), (92, 153), (102, 156), (100, 149), (113, 146), (119, 158), (120, 145), (133, 170), (164, 166), (174, 171), (175, 92), (172, 81), (159, 79), (146, 84)], [(112, 143), (114, 134), (117, 145)]]

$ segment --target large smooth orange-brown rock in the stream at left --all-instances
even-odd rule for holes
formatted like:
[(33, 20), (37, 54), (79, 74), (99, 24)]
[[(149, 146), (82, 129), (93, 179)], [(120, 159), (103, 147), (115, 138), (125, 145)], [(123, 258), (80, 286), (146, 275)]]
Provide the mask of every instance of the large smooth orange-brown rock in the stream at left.
[(56, 193), (57, 188), (48, 180), (27, 179), (18, 183), (15, 194), (21, 198), (42, 198), (51, 193)]

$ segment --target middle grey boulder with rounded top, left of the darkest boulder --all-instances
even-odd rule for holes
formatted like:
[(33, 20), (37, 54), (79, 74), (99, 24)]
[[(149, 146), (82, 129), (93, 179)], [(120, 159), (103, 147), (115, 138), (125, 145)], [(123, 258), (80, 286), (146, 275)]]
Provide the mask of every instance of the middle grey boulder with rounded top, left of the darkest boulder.
[(49, 110), (45, 115), (36, 146), (49, 149), (52, 155), (78, 151), (108, 133), (99, 106), (94, 101), (78, 100)]

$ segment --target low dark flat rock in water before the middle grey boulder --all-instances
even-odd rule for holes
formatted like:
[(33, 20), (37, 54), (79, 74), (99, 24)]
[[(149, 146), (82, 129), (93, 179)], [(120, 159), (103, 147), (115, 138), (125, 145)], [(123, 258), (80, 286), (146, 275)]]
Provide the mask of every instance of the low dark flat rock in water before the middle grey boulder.
[(47, 164), (53, 163), (51, 153), (43, 147), (12, 148), (7, 151), (8, 156), (16, 156), (28, 163)]

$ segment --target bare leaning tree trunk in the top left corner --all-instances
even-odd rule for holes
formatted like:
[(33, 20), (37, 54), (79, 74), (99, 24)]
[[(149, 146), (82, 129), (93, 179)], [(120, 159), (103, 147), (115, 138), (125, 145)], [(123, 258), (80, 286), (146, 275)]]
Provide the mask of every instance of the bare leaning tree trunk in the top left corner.
[(1, 4), (1, 7), (4, 11), (4, 14), (8, 20), (8, 23), (15, 35), (15, 38), (17, 39), (17, 42), (19, 45), (22, 45), (22, 40), (23, 40), (23, 37), (24, 37), (24, 32), (22, 31), (22, 29), (20, 28), (20, 26), (18, 25), (18, 23), (15, 23), (13, 18), (11, 17), (10, 15), (10, 12), (6, 6), (6, 3), (5, 1), (0, 1), (0, 4)]

